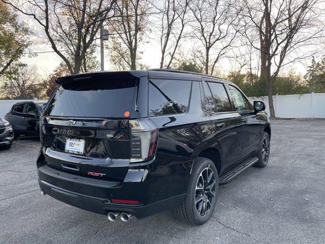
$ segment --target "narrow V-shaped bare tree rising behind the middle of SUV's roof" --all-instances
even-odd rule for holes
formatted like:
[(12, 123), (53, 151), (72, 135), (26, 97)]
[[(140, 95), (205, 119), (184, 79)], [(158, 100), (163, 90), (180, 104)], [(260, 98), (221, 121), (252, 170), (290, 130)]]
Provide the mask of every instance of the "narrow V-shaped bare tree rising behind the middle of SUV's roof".
[[(165, 0), (160, 22), (160, 68), (171, 67), (187, 23), (188, 0)], [(169, 57), (169, 60), (167, 58)], [(166, 64), (165, 64), (166, 63)]]

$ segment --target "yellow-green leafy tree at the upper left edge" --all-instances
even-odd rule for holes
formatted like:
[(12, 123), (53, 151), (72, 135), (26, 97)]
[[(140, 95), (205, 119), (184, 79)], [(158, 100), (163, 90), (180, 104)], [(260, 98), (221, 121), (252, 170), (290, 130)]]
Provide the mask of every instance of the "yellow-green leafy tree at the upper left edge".
[(30, 28), (18, 20), (18, 15), (0, 2), (0, 77), (11, 63), (17, 61), (31, 44)]

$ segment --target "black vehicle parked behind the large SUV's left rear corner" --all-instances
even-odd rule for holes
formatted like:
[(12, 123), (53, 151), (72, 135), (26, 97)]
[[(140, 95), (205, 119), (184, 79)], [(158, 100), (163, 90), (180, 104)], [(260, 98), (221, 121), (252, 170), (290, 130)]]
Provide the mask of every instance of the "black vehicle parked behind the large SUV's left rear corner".
[(34, 102), (21, 102), (12, 106), (5, 115), (14, 129), (15, 139), (19, 135), (39, 136), (40, 115), (43, 109)]

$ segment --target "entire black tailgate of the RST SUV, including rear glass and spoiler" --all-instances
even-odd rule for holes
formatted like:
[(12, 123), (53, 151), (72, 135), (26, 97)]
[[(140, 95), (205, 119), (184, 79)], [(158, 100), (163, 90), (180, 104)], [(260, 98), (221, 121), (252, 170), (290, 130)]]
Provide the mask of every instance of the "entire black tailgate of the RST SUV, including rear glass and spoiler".
[(139, 80), (127, 72), (62, 79), (42, 117), (47, 164), (90, 178), (123, 180)]

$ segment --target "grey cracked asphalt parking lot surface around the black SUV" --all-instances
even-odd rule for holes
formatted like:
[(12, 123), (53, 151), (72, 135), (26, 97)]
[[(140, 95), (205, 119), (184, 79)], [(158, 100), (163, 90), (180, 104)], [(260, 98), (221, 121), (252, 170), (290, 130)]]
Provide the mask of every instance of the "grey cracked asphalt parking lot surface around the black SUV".
[(0, 150), (0, 243), (324, 243), (325, 120), (272, 121), (266, 168), (220, 186), (213, 218), (180, 222), (172, 210), (110, 222), (49, 196), (36, 172), (39, 141)]

